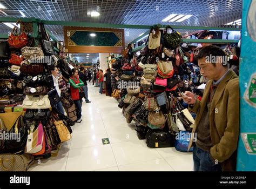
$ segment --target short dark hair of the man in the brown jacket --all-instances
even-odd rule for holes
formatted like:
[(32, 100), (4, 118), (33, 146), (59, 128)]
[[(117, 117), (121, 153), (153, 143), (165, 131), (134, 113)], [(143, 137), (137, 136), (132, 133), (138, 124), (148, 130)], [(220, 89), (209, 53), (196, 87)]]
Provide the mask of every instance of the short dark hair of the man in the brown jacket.
[[(197, 60), (206, 57), (226, 57), (226, 53), (218, 46), (209, 45), (200, 49), (198, 55), (195, 57)], [(215, 66), (215, 63), (213, 64)], [(227, 63), (223, 63), (223, 66), (227, 66)]]

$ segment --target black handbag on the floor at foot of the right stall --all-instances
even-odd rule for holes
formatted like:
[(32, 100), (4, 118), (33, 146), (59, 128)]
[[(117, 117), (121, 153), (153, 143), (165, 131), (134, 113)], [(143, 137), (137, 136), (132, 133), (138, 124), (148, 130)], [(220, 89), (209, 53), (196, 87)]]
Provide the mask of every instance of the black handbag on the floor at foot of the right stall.
[(175, 142), (175, 136), (170, 132), (163, 130), (149, 130), (146, 134), (146, 143), (148, 147), (173, 147)]

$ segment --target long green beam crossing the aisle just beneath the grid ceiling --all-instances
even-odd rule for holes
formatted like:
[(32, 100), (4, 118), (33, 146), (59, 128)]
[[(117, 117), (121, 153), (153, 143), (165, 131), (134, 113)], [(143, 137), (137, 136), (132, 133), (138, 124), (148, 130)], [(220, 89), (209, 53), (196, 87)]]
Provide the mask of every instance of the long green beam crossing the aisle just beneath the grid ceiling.
[[(35, 18), (12, 18), (12, 17), (0, 17), (0, 22), (16, 22), (17, 19), (21, 19), (23, 22), (32, 22)], [(150, 29), (151, 25), (127, 25), (127, 24), (107, 24), (107, 23), (89, 23), (89, 22), (65, 22), (65, 21), (42, 21), (46, 25), (62, 25), (62, 26), (80, 26), (91, 28), (130, 28), (130, 29)], [(161, 28), (165, 28), (167, 25), (158, 24)], [(187, 25), (172, 25), (173, 29), (184, 30), (218, 30), (218, 31), (240, 31), (238, 28), (218, 28), (208, 26), (187, 26)]]

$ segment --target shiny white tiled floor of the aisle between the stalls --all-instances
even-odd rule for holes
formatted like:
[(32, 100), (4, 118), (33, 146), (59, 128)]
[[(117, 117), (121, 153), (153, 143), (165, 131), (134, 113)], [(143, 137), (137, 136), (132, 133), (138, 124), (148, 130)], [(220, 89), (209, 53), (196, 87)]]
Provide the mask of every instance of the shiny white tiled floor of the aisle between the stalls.
[[(126, 123), (118, 102), (88, 86), (92, 103), (83, 102), (83, 122), (73, 126), (72, 139), (57, 157), (38, 160), (29, 171), (193, 171), (191, 152), (150, 149)], [(103, 138), (110, 144), (103, 145)]]

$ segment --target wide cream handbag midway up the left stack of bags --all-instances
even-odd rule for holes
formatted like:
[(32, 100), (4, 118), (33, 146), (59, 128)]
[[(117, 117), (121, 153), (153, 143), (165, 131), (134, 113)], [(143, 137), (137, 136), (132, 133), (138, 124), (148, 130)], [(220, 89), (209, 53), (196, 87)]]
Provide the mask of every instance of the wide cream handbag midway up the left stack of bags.
[(39, 97), (26, 95), (26, 98), (23, 100), (22, 107), (24, 109), (49, 109), (51, 104), (48, 95), (40, 95)]

